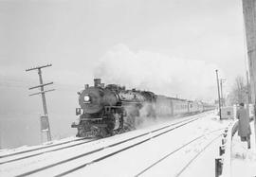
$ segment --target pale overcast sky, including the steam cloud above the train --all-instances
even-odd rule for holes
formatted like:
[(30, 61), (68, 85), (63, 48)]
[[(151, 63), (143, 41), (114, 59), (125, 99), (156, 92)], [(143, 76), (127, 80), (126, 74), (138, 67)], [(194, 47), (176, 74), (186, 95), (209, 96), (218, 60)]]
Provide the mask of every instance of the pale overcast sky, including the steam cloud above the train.
[[(217, 98), (245, 76), (241, 0), (0, 0), (0, 147), (38, 144), (44, 80), (53, 139), (75, 134), (77, 91), (95, 77), (156, 94)], [(60, 123), (61, 122), (61, 123)]]

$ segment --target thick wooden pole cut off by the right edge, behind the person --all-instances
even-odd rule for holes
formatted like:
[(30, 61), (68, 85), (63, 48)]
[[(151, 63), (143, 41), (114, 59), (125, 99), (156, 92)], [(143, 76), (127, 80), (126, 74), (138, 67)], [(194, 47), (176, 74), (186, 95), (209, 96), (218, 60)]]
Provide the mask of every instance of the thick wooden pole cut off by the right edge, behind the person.
[[(250, 79), (250, 94), (251, 101), (252, 103), (254, 103), (254, 111), (256, 112), (256, 0), (242, 0), (242, 2), (247, 37), (247, 58)], [(256, 134), (255, 114), (254, 128)]]

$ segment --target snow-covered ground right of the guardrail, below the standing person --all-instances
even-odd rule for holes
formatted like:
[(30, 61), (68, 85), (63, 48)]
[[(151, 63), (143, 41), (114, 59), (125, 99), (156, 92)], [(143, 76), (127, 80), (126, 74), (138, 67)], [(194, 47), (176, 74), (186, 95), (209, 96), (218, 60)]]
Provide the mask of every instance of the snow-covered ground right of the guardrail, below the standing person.
[(254, 122), (250, 123), (251, 128), (251, 148), (247, 149), (247, 142), (241, 142), (240, 137), (235, 133), (232, 140), (231, 155), (231, 176), (251, 177), (256, 176), (256, 146)]

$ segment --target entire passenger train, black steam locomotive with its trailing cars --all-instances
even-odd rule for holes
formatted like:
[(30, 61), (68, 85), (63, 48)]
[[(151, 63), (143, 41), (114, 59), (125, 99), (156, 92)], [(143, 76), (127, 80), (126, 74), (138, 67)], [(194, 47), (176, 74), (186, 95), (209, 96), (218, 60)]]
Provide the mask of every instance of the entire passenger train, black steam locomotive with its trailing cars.
[(84, 85), (79, 92), (79, 122), (73, 123), (79, 137), (106, 137), (135, 128), (136, 117), (147, 118), (194, 114), (213, 109), (211, 105), (186, 99), (155, 95), (153, 92), (127, 90), (117, 84)]

